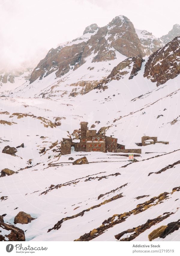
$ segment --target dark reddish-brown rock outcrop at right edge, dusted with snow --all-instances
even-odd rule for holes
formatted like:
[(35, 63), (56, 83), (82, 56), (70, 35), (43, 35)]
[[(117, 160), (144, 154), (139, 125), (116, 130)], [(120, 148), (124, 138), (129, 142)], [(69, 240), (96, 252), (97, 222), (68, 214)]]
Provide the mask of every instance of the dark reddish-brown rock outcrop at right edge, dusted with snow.
[(176, 37), (149, 57), (145, 65), (144, 77), (159, 86), (180, 74), (179, 63), (180, 37)]

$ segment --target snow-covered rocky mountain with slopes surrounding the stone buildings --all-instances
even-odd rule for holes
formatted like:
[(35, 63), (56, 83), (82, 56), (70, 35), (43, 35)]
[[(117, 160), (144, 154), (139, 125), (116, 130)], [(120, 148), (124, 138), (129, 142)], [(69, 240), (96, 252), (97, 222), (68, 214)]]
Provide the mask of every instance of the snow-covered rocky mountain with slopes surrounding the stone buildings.
[[(0, 240), (180, 240), (180, 37), (154, 40), (125, 16), (92, 24), (0, 97)], [(61, 155), (81, 121), (142, 153)]]

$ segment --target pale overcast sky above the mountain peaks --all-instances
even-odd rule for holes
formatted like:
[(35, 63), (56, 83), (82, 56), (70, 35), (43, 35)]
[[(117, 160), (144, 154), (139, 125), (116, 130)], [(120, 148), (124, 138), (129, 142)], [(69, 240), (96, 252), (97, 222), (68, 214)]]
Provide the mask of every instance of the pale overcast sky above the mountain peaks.
[(0, 0), (0, 69), (37, 64), (50, 48), (117, 15), (159, 37), (180, 24), (179, 10), (179, 0)]

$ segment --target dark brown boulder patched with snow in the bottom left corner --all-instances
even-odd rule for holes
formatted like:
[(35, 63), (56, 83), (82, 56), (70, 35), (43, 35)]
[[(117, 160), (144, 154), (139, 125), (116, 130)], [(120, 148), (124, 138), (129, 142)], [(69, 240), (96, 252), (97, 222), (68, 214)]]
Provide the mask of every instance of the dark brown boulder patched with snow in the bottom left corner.
[(25, 241), (24, 231), (9, 223), (0, 222), (0, 241)]

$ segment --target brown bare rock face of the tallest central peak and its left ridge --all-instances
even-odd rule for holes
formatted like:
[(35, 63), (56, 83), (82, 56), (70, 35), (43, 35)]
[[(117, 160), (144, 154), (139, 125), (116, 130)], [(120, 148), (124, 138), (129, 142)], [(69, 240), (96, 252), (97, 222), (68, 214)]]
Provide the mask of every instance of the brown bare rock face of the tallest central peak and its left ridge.
[(54, 71), (56, 77), (61, 77), (70, 69), (76, 70), (92, 53), (94, 57), (91, 62), (113, 60), (116, 58), (116, 51), (127, 57), (145, 56), (134, 25), (125, 16), (119, 15), (101, 28), (98, 28), (97, 24), (91, 24), (86, 27), (84, 35), (87, 33), (90, 33), (88, 40), (82, 37), (78, 42), (73, 40), (67, 45), (50, 49), (33, 70), (30, 84)]

